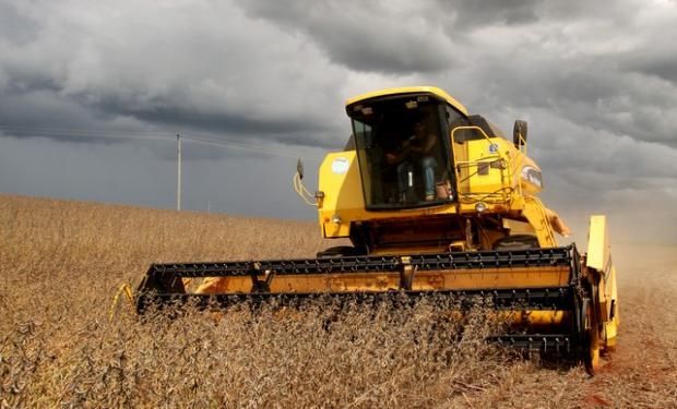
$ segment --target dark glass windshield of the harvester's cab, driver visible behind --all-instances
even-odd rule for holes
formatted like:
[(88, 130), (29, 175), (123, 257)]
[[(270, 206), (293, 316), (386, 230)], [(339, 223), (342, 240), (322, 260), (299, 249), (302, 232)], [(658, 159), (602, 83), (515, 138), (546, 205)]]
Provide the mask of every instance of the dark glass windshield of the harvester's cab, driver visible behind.
[(444, 103), (428, 95), (405, 95), (355, 104), (348, 115), (367, 209), (453, 200)]

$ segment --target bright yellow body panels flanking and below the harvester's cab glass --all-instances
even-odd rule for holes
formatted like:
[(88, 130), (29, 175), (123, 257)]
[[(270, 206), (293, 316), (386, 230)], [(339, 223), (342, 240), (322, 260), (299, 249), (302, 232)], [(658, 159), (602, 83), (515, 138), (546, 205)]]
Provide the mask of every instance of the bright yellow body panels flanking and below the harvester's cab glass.
[[(460, 129), (479, 130), (476, 127), (460, 127)], [(459, 144), (455, 143), (453, 133), (450, 137), (456, 164), (459, 201), (458, 203), (442, 204), (433, 207), (367, 210), (365, 208), (364, 191), (368, 193), (370, 187), (365, 185), (363, 188), (357, 153), (355, 151), (344, 151), (328, 154), (320, 166), (318, 189), (324, 194), (321, 205), (318, 206), (319, 222), (323, 237), (349, 237), (351, 222), (354, 221), (420, 219), (429, 216), (454, 214), (474, 215), (476, 214), (475, 205), (477, 202), (486, 204), (486, 213), (511, 214), (518, 219), (526, 218), (527, 214), (536, 215), (545, 212), (541, 209), (542, 205), (537, 200), (530, 202), (532, 193), (537, 193), (538, 187), (521, 178), (524, 166), (532, 166), (535, 169), (538, 169), (538, 167), (533, 160), (516, 149), (512, 143), (501, 137), (486, 136), (484, 140), (466, 141)], [(494, 147), (490, 148), (492, 145)], [(345, 172), (336, 171), (336, 167), (333, 166), (336, 160), (348, 163)], [(492, 163), (496, 163), (496, 165), (491, 166)], [(485, 171), (479, 172), (480, 168)], [(340, 224), (332, 221), (335, 216), (340, 217)], [(550, 239), (551, 229), (548, 230), (547, 226), (544, 227), (541, 222), (538, 227), (534, 226), (534, 229), (542, 230), (539, 236), (542, 243), (547, 244), (547, 246), (556, 245), (555, 240)], [(541, 238), (544, 239), (541, 240)]]

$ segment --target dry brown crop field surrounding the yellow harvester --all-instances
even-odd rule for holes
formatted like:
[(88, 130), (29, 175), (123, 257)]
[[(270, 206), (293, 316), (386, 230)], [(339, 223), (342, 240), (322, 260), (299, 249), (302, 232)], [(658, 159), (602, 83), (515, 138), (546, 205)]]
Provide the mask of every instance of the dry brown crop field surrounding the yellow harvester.
[(319, 234), (313, 222), (0, 195), (0, 407), (677, 407), (674, 244), (611, 239), (620, 335), (594, 377), (487, 346), (480, 309), (461, 330), (426, 301), (140, 320), (122, 298), (109, 320), (120, 285), (151, 263), (313, 256), (336, 244)]

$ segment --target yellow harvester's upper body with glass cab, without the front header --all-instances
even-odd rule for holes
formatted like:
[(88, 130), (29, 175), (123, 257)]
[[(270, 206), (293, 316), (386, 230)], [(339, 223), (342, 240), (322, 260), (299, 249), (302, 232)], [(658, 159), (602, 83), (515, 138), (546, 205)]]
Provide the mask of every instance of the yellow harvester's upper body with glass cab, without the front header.
[[(435, 87), (396, 88), (346, 104), (344, 152), (320, 167), (325, 238), (368, 254), (556, 246), (569, 234), (536, 199), (538, 166), (526, 156), (526, 122), (513, 141)], [(546, 218), (545, 221), (543, 219)]]

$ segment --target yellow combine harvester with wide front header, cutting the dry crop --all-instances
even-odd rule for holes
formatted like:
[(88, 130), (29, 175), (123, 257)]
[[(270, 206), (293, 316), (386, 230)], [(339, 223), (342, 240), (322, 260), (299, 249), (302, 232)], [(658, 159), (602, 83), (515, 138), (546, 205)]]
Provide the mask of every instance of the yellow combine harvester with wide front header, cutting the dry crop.
[[(569, 229), (537, 199), (542, 172), (526, 156), (526, 122), (513, 139), (437, 87), (404, 87), (346, 103), (353, 135), (326, 155), (319, 189), (295, 188), (318, 207), (328, 239), (309, 260), (156, 264), (136, 308), (195, 299), (228, 305), (276, 297), (490, 298), (514, 321), (494, 340), (577, 353), (590, 372), (614, 347), (616, 272), (604, 216), (592, 216), (587, 253), (559, 246)], [(189, 278), (205, 278), (191, 290)]]

